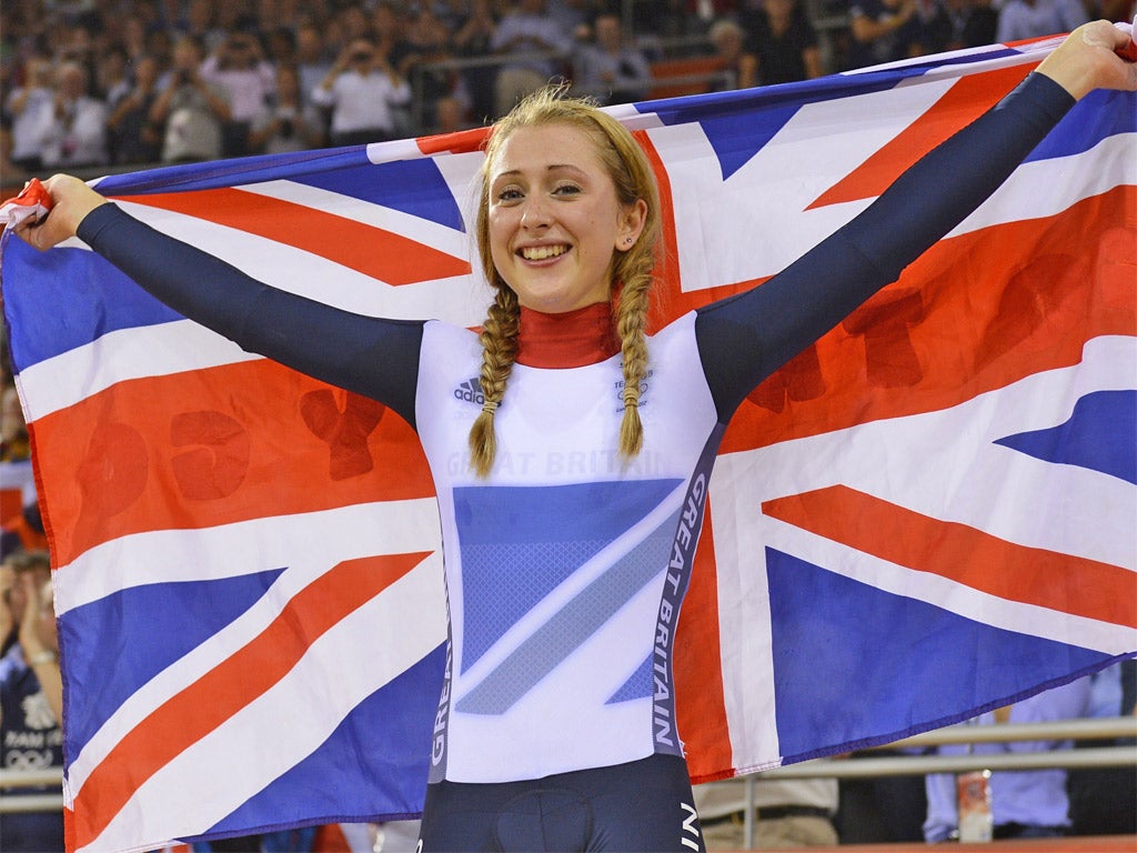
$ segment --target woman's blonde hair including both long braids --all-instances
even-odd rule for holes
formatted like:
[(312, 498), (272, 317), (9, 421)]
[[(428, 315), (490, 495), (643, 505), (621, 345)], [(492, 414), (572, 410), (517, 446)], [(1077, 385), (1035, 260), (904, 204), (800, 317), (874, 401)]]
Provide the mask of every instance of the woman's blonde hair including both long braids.
[(612, 177), (616, 199), (625, 206), (642, 199), (647, 204), (644, 227), (626, 251), (613, 251), (608, 280), (619, 287), (613, 293), (613, 325), (623, 356), (624, 414), (620, 425), (620, 453), (625, 459), (644, 446), (639, 416), (640, 383), (647, 373), (647, 315), (652, 292), (652, 270), (659, 241), (659, 192), (652, 166), (631, 133), (620, 122), (582, 98), (566, 98), (566, 86), (547, 86), (524, 98), (500, 118), (485, 144), (482, 187), (478, 204), (476, 237), (482, 272), (493, 287), (495, 298), (482, 326), (481, 388), (485, 405), (470, 430), (471, 463), (479, 477), (487, 477), (497, 454), (493, 413), (505, 394), (517, 354), (521, 305), (516, 293), (498, 273), (490, 254), (490, 169), (509, 135), (522, 127), (564, 124), (586, 132)]

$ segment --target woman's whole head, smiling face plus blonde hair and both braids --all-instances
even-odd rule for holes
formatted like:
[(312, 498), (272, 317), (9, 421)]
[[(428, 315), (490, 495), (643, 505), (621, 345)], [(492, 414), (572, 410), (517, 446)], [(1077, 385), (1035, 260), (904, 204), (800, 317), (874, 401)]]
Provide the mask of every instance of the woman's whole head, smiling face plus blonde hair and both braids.
[[(493, 464), (493, 413), (517, 356), (506, 332), (524, 322), (525, 310), (607, 306), (614, 288), (617, 336), (601, 333), (594, 355), (623, 353), (620, 452), (630, 458), (644, 444), (638, 404), (661, 227), (658, 190), (623, 125), (562, 94), (537, 92), (501, 119), (482, 166), (478, 249), (495, 289), (481, 337), (485, 405), (470, 433), (471, 458), (482, 474)], [(609, 322), (607, 307), (599, 313)]]

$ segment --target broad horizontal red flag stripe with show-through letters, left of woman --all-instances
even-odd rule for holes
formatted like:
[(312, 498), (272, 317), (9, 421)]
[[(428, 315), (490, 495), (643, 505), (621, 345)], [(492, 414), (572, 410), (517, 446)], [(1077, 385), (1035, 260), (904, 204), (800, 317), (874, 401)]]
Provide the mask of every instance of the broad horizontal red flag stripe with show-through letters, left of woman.
[(30, 429), (52, 448), (59, 565), (130, 533), (434, 494), (406, 421), (268, 359), (119, 382)]

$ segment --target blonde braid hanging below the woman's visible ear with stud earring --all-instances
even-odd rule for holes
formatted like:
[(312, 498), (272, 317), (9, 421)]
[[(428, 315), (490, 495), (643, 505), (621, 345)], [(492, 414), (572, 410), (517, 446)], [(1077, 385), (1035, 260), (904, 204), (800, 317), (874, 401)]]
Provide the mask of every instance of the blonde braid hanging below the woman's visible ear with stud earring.
[(630, 254), (623, 288), (614, 307), (616, 333), (623, 355), (624, 416), (620, 422), (620, 453), (625, 459), (644, 447), (644, 424), (639, 415), (640, 383), (647, 373), (647, 315), (652, 292), (652, 256)]

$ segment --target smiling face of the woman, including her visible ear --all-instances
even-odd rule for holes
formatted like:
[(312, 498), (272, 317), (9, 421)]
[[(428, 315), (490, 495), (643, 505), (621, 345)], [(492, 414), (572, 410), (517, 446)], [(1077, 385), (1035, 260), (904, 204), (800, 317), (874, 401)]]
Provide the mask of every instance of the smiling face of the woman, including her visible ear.
[(606, 301), (613, 251), (644, 227), (621, 205), (596, 141), (564, 124), (522, 127), (489, 172), (490, 254), (526, 308), (558, 314)]

